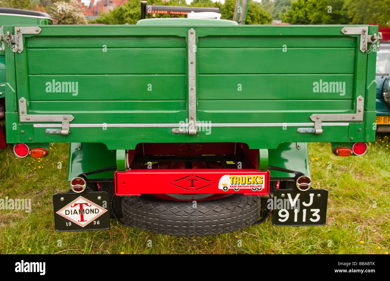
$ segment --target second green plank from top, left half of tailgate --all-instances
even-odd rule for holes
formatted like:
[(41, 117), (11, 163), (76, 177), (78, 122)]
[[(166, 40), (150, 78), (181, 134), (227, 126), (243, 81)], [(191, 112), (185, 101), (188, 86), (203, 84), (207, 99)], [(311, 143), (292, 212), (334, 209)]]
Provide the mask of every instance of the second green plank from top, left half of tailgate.
[[(185, 74), (184, 48), (37, 48), (27, 53), (30, 75)], [(86, 58), (93, 59), (87, 63)], [(55, 67), (48, 67), (52, 62)]]

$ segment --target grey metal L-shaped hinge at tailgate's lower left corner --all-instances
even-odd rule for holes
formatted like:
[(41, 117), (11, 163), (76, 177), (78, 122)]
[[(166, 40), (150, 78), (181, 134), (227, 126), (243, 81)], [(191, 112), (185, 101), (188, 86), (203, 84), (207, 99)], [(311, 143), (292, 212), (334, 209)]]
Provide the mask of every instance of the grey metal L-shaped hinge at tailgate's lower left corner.
[(19, 117), (20, 122), (61, 122), (61, 129), (46, 129), (46, 134), (61, 134), (69, 135), (69, 122), (73, 121), (74, 117), (70, 114), (53, 115), (53, 114), (39, 114), (39, 115), (28, 115), (27, 114), (27, 103), (24, 97), (19, 99)]

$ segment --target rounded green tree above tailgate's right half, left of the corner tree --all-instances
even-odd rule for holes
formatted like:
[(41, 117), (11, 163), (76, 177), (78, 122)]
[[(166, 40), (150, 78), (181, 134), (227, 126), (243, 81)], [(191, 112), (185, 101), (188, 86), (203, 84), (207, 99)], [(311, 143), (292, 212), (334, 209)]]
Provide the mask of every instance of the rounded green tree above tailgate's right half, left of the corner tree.
[(286, 23), (298, 25), (349, 24), (344, 0), (297, 0), (282, 14)]

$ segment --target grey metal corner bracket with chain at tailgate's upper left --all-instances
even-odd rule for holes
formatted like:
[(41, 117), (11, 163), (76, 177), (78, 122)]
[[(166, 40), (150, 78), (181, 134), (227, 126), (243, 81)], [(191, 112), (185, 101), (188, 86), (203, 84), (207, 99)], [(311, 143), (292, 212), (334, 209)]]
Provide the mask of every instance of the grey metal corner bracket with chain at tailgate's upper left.
[(7, 42), (11, 51), (21, 53), (23, 51), (23, 34), (39, 34), (41, 31), (42, 29), (39, 27), (15, 27), (14, 35), (9, 31), (0, 35), (1, 48), (4, 52), (4, 42)]

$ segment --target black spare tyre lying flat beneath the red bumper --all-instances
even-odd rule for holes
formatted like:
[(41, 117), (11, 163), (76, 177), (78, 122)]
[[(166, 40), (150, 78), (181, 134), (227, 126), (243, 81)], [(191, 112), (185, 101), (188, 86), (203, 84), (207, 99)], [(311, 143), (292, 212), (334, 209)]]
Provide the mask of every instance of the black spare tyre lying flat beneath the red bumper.
[[(195, 207), (194, 207), (195, 206)], [(171, 201), (151, 195), (122, 197), (129, 226), (165, 235), (201, 236), (228, 233), (255, 223), (260, 196), (232, 194), (215, 200)]]

